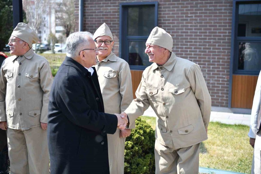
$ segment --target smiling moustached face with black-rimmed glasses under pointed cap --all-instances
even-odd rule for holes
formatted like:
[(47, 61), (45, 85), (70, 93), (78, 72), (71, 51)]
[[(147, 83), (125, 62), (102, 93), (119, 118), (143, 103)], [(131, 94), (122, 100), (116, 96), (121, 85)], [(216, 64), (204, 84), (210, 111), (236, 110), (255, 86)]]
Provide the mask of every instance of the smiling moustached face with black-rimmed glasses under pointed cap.
[[(95, 40), (100, 41), (112, 41), (109, 36), (99, 36)], [(105, 59), (108, 55), (110, 55), (114, 42), (112, 41), (109, 45), (106, 45), (104, 42), (102, 44), (97, 44), (95, 42), (96, 47), (99, 49), (97, 58), (99, 61)]]

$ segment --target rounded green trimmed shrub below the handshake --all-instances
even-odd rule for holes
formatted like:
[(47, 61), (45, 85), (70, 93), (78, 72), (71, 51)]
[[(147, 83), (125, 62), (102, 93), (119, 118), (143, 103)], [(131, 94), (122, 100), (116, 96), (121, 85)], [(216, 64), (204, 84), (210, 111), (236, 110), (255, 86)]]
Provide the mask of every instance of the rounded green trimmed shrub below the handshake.
[(125, 142), (124, 174), (155, 173), (155, 130), (141, 118), (135, 125)]

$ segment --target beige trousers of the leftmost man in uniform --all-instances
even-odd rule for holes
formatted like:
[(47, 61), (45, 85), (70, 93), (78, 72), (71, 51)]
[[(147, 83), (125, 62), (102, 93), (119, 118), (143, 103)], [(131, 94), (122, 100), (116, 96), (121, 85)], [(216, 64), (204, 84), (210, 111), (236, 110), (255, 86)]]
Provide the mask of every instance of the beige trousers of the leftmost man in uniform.
[(7, 128), (10, 173), (49, 174), (47, 130)]

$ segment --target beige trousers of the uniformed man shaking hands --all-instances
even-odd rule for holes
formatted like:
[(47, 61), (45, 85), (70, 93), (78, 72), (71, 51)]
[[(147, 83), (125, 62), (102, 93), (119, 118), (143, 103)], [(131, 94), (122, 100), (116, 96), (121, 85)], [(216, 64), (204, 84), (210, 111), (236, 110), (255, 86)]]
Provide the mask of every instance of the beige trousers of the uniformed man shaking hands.
[(155, 174), (198, 174), (200, 143), (170, 148), (155, 141)]

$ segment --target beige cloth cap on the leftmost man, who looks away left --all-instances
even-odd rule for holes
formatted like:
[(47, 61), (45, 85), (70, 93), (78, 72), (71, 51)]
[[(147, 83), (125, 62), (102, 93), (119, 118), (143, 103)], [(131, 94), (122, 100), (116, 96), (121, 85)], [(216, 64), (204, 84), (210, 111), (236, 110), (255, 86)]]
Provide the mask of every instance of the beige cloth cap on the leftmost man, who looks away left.
[(17, 24), (11, 36), (18, 37), (19, 39), (27, 42), (30, 48), (32, 48), (32, 44), (36, 44), (39, 40), (35, 30), (23, 22)]

